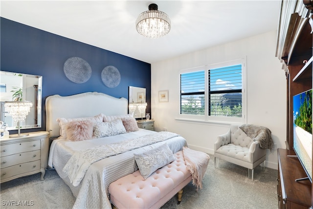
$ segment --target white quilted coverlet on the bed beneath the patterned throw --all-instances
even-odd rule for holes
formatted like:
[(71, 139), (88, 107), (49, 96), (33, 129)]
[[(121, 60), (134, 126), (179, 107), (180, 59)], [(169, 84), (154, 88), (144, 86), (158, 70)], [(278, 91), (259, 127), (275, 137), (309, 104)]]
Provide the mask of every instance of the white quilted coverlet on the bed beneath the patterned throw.
[[(79, 186), (73, 186), (70, 183), (67, 174), (63, 172), (63, 167), (75, 151), (83, 151), (101, 144), (134, 139), (151, 133), (154, 132), (140, 129), (139, 131), (128, 134), (86, 141), (68, 141), (64, 139), (54, 140), (50, 147), (49, 166), (53, 166), (56, 169), (60, 177), (72, 190), (73, 195), (76, 197), (73, 208), (111, 209), (108, 187), (113, 181), (133, 173), (138, 169), (134, 160), (134, 153), (140, 154), (154, 149), (164, 142), (160, 141), (91, 164)], [(182, 147), (187, 145), (186, 140), (180, 136), (168, 139), (166, 140), (166, 143), (169, 145), (173, 153), (182, 150)]]

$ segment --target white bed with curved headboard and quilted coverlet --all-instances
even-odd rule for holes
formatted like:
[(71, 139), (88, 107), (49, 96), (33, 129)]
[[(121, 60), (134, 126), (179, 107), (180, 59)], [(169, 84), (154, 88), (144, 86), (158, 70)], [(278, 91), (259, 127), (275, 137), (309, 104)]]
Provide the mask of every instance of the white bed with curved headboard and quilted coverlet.
[[(60, 136), (60, 125), (57, 118), (90, 117), (104, 114), (106, 116), (127, 115), (128, 101), (125, 98), (115, 98), (103, 93), (81, 93), (71, 96), (52, 95), (46, 99), (46, 130), (51, 138)], [(63, 172), (68, 160), (77, 152), (81, 152), (99, 145), (123, 142), (156, 133), (139, 129), (126, 134), (89, 139), (82, 141), (70, 141), (68, 139), (54, 139), (49, 153), (50, 167), (54, 167), (60, 177), (71, 188), (76, 197), (73, 208), (111, 208), (108, 195), (108, 186), (113, 181), (133, 173), (137, 170), (134, 153), (142, 153), (154, 149), (164, 141), (136, 148), (128, 152), (114, 155), (92, 163), (84, 178), (78, 186), (73, 186), (67, 173)], [(186, 146), (186, 140), (181, 136), (166, 139), (166, 143), (173, 153), (182, 150)]]

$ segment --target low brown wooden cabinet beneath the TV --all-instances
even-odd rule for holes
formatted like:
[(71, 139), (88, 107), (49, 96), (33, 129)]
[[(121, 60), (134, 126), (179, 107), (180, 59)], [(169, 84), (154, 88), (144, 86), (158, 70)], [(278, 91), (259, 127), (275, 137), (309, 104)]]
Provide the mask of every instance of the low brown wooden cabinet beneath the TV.
[(278, 204), (279, 209), (308, 209), (311, 206), (311, 182), (296, 182), (306, 177), (302, 165), (293, 150), (277, 149), (278, 154)]

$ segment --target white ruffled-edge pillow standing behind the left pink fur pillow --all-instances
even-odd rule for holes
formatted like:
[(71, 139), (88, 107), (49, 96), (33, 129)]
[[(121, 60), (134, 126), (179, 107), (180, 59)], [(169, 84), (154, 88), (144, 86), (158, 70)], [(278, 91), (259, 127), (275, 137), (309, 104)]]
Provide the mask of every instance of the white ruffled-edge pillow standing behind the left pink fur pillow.
[(67, 139), (67, 131), (66, 131), (67, 123), (72, 122), (72, 121), (82, 121), (82, 120), (87, 120), (90, 123), (102, 122), (103, 116), (104, 116), (103, 114), (99, 114), (93, 117), (77, 117), (77, 118), (59, 117), (57, 119), (57, 122), (59, 122), (59, 126), (60, 126), (60, 137), (58, 139)]

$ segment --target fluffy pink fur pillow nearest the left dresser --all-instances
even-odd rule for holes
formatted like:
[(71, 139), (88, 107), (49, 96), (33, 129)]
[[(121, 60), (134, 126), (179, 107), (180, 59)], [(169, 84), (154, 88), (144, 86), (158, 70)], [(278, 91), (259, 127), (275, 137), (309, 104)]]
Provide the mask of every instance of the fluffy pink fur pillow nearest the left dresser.
[(93, 122), (87, 120), (71, 121), (67, 123), (67, 139), (71, 141), (92, 139), (93, 125)]

